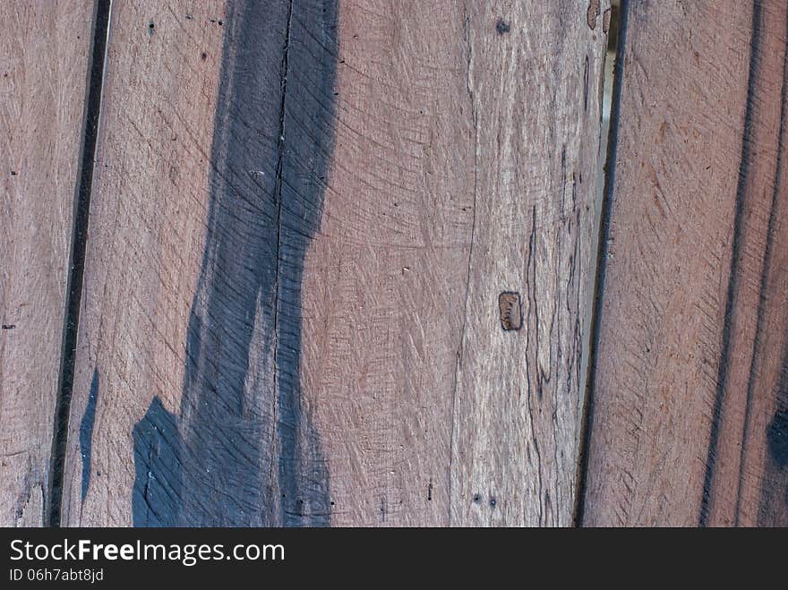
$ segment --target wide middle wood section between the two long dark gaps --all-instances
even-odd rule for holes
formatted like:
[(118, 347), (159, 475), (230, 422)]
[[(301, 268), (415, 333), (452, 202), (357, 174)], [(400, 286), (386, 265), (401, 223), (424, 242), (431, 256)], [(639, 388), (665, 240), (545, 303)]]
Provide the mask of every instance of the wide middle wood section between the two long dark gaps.
[(607, 3), (439, 4), (113, 3), (64, 524), (570, 524)]

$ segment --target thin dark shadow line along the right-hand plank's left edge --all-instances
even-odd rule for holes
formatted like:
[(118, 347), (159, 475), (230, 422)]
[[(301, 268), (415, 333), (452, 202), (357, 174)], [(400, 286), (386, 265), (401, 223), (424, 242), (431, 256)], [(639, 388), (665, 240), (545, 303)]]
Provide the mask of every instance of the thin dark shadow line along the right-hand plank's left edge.
[(627, 45), (627, 22), (630, 14), (630, 1), (621, 0), (618, 27), (618, 47), (616, 49), (615, 66), (613, 68), (612, 100), (610, 107), (610, 130), (607, 140), (607, 157), (604, 174), (604, 194), (599, 227), (599, 244), (596, 254), (596, 281), (594, 294), (594, 312), (591, 317), (591, 342), (588, 353), (588, 371), (586, 382), (586, 403), (580, 440), (582, 444), (578, 459), (578, 494), (575, 499), (574, 526), (583, 526), (586, 509), (586, 485), (588, 481), (588, 449), (591, 447), (591, 432), (594, 427), (594, 384), (596, 381), (597, 352), (599, 349), (600, 330), (602, 327), (602, 301), (604, 297), (604, 278), (607, 272), (607, 259), (610, 255), (610, 221), (612, 215), (613, 189), (615, 185), (616, 157), (619, 145), (619, 129), (621, 127), (621, 88), (624, 77), (624, 50)]

